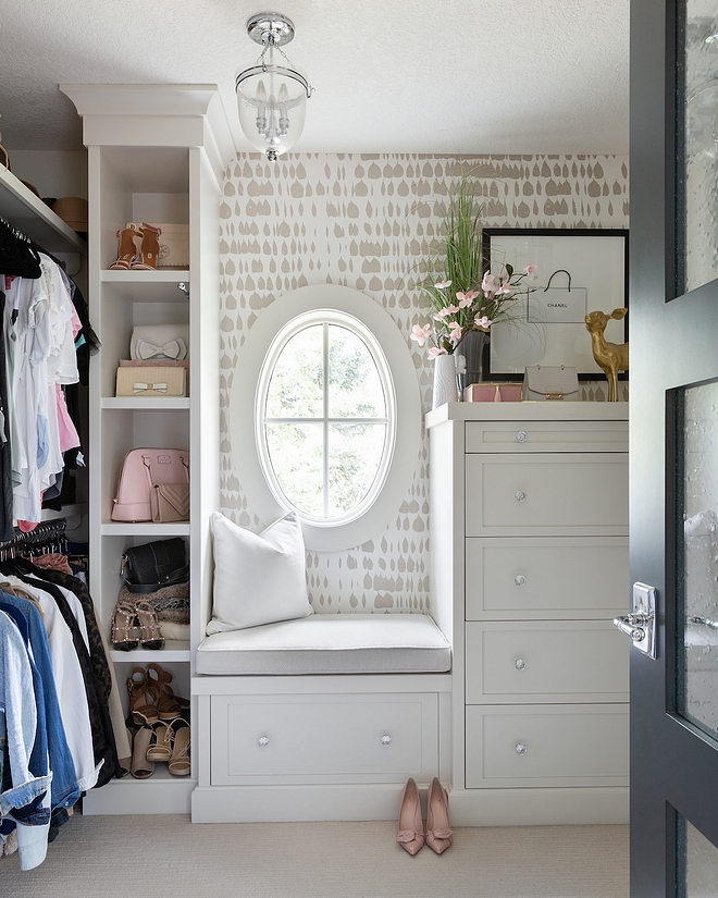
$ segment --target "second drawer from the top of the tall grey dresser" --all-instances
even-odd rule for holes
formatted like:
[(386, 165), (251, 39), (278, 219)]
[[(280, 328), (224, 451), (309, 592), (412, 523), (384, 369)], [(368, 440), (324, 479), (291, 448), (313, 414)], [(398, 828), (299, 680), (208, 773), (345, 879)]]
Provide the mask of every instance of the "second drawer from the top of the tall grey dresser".
[(466, 536), (626, 536), (628, 455), (467, 455)]

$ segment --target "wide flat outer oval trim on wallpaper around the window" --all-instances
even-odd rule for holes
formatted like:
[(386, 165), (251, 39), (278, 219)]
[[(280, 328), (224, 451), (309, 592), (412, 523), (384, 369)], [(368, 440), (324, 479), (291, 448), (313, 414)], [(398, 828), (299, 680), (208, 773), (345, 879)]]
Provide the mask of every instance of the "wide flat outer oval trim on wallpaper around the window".
[(352, 520), (321, 526), (301, 524), (307, 549), (338, 552), (374, 539), (385, 529), (398, 514), (420, 464), (421, 396), (417, 370), (391, 316), (371, 297), (337, 284), (299, 287), (275, 299), (257, 318), (239, 349), (230, 395), (230, 434), (240, 487), (252, 512), (269, 525), (286, 514), (288, 507), (273, 495), (260, 462), (255, 429), (260, 374), (285, 325), (319, 309), (356, 318), (373, 334), (388, 364), (396, 402), (394, 452), (374, 502)]

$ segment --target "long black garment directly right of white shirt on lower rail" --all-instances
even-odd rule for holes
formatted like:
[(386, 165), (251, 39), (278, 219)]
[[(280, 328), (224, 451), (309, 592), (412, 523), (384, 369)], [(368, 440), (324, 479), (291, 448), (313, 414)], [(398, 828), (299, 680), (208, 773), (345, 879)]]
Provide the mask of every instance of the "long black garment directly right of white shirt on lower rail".
[(74, 649), (77, 654), (79, 667), (83, 673), (83, 679), (85, 681), (90, 729), (92, 731), (92, 751), (95, 754), (95, 763), (99, 764), (102, 762), (96, 784), (96, 788), (99, 788), (100, 786), (104, 786), (111, 779), (122, 776), (120, 761), (117, 759), (117, 749), (114, 741), (114, 733), (110, 721), (110, 712), (102, 696), (100, 684), (98, 682), (95, 672), (92, 671), (92, 664), (89, 652), (87, 651), (87, 645), (85, 645), (85, 640), (83, 639), (77, 620), (75, 619), (75, 615), (72, 613), (67, 600), (54, 583), (51, 583), (49, 580), (45, 579), (44, 575), (47, 571), (44, 571), (40, 568), (35, 568), (35, 566), (32, 565), (33, 568), (37, 570), (37, 574), (35, 577), (27, 576), (27, 574), (23, 570), (23, 567), (27, 564), (30, 563), (24, 562), (23, 559), (1, 562), (0, 573), (5, 575), (14, 574), (30, 588), (35, 587), (36, 589), (42, 589), (45, 592), (49, 593), (58, 605), (58, 610), (60, 611), (63, 619), (70, 627)]

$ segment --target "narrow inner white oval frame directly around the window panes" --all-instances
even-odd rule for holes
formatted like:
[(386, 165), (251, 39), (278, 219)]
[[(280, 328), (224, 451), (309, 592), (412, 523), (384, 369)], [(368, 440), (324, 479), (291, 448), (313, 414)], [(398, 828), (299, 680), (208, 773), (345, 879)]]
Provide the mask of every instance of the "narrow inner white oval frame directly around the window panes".
[[(382, 384), (384, 404), (386, 408), (386, 414), (383, 416), (385, 422), (385, 434), (382, 456), (367, 494), (346, 514), (335, 515), (331, 518), (319, 518), (314, 515), (302, 512), (301, 508), (293, 505), (292, 500), (282, 489), (274, 470), (271, 452), (267, 443), (265, 431), (267, 397), (272, 374), (274, 373), (274, 367), (278, 361), (280, 356), (292, 337), (296, 336), (307, 328), (318, 327), (320, 324), (344, 328), (361, 340), (372, 361), (376, 366), (376, 373), (379, 374), (379, 379)], [(369, 507), (374, 504), (384, 488), (384, 483), (386, 482), (386, 477), (392, 465), (392, 458), (394, 456), (394, 446), (396, 442), (396, 391), (394, 389), (392, 370), (386, 356), (384, 355), (381, 343), (376, 340), (373, 332), (355, 315), (347, 315), (336, 308), (314, 309), (312, 311), (302, 312), (301, 315), (295, 316), (275, 335), (267, 352), (267, 356), (264, 357), (264, 362), (260, 370), (259, 381), (257, 384), (257, 398), (255, 401), (255, 441), (257, 443), (257, 452), (259, 455), (262, 473), (264, 475), (264, 479), (274, 494), (274, 497), (281, 505), (288, 503), (288, 508), (296, 509), (302, 524), (313, 527), (342, 527), (343, 525), (350, 524), (356, 518), (361, 517), (361, 515), (363, 515)]]

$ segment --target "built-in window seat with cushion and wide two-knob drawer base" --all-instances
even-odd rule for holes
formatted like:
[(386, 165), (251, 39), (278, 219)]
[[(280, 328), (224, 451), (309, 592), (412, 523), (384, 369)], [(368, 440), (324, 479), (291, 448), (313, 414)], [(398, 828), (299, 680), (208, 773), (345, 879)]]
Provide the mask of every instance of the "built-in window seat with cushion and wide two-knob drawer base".
[(451, 649), (422, 614), (313, 614), (207, 637), (193, 821), (392, 820), (450, 775)]

